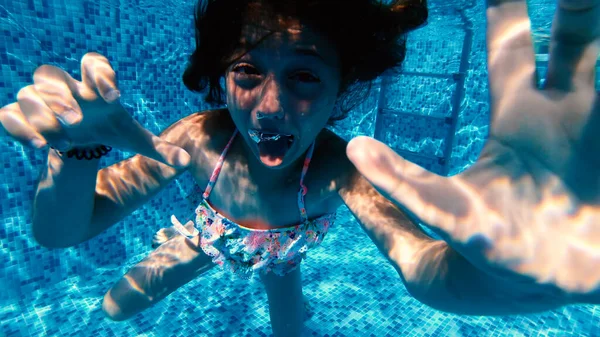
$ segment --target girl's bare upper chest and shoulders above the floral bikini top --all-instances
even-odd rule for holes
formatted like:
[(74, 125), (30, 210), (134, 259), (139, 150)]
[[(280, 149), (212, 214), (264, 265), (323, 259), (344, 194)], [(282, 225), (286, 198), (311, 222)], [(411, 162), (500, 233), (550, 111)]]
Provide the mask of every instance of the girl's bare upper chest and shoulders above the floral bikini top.
[[(219, 149), (219, 146), (214, 148)], [(272, 229), (301, 223), (298, 203), (301, 169), (275, 184), (261, 186), (253, 179), (246, 160), (235, 148), (232, 146), (223, 161), (208, 198), (209, 204), (244, 227)], [(204, 151), (202, 156), (196, 157), (192, 175), (200, 191), (206, 189), (220, 156), (220, 151)], [(309, 219), (333, 213), (341, 205), (336, 174), (321, 162), (319, 158), (313, 158), (304, 177), (303, 183), (307, 187), (304, 206)]]

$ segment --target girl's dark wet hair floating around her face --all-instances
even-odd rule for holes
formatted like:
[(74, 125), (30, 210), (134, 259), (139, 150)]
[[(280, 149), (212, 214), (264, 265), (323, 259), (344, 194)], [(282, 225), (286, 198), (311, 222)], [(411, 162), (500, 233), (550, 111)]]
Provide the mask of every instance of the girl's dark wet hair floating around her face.
[(426, 0), (390, 4), (382, 0), (198, 0), (196, 50), (189, 57), (183, 83), (195, 92), (208, 87), (205, 102), (224, 104), (220, 80), (234, 50), (242, 47), (248, 52), (262, 41), (240, 46), (243, 25), (261, 23), (285, 29), (286, 18), (299, 19), (323, 34), (340, 55), (342, 82), (332, 124), (369, 94), (374, 79), (388, 69), (400, 69), (406, 33), (421, 27), (427, 16)]

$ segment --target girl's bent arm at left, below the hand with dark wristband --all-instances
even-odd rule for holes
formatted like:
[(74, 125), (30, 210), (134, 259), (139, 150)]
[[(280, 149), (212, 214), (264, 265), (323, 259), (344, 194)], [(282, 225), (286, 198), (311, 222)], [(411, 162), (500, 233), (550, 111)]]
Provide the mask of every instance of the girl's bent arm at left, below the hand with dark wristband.
[[(160, 138), (193, 157), (190, 126), (201, 114), (179, 120)], [(103, 232), (142, 206), (185, 170), (135, 155), (98, 172), (99, 159), (63, 158), (54, 150), (34, 199), (33, 233), (41, 245), (70, 247)]]

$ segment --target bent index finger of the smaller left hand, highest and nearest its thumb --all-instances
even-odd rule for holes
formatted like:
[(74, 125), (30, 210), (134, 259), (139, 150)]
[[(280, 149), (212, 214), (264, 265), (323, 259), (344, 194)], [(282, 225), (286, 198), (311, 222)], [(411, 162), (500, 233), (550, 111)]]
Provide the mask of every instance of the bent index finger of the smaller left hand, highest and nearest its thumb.
[[(77, 92), (83, 97), (91, 95), (88, 90), (100, 95), (107, 103), (115, 103), (121, 97), (117, 87), (117, 74), (106, 57), (98, 53), (87, 53), (81, 59), (82, 88)], [(87, 97), (87, 100), (91, 100)]]

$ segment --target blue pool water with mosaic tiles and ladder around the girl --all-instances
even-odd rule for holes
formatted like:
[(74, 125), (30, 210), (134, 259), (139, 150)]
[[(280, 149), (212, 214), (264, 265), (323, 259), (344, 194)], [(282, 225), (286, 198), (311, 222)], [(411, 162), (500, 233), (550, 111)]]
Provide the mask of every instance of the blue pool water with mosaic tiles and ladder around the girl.
[[(553, 1), (530, 1), (543, 74)], [(122, 101), (159, 133), (205, 109), (180, 77), (193, 48), (193, 1), (0, 0), (0, 93), (6, 105), (53, 64), (80, 75), (88, 51), (117, 70)], [(483, 1), (430, 1), (427, 27), (409, 38), (400, 77), (384, 77), (334, 131), (346, 139), (377, 136), (435, 172), (455, 174), (476, 159), (487, 134)], [(596, 77), (599, 78), (598, 76)], [(111, 152), (103, 165), (130, 156)], [(32, 239), (31, 207), (46, 154), (0, 139), (0, 336), (267, 336), (267, 299), (250, 282), (214, 268), (125, 322), (111, 322), (102, 296), (151, 249), (152, 235), (182, 222), (195, 205), (182, 176), (102, 235), (70, 249)], [(185, 220), (184, 220), (185, 219)], [(321, 247), (303, 263), (314, 316), (309, 336), (600, 336), (600, 310), (577, 305), (535, 315), (468, 317), (412, 299), (345, 207)]]

